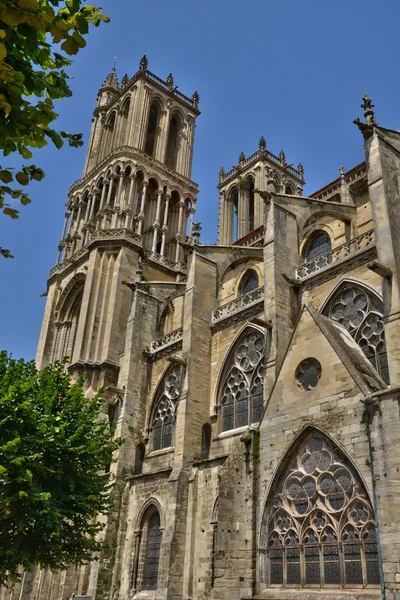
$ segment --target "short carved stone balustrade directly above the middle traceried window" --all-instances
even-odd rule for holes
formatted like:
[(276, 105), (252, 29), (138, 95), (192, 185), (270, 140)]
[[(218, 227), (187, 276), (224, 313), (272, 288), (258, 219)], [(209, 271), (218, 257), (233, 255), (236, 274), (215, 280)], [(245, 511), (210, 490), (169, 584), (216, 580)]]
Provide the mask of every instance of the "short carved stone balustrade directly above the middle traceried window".
[(263, 308), (264, 287), (262, 286), (215, 308), (211, 313), (211, 327), (219, 329), (229, 327), (232, 323), (256, 315)]

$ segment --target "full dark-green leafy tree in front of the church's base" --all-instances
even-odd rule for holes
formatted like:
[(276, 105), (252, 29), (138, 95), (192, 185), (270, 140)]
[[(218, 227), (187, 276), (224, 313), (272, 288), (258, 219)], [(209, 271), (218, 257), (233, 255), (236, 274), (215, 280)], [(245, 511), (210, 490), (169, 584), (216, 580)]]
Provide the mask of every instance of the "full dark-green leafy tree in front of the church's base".
[(82, 385), (62, 363), (37, 371), (0, 352), (0, 585), (20, 567), (65, 569), (101, 547), (104, 467), (122, 440), (100, 418), (101, 393), (87, 399)]

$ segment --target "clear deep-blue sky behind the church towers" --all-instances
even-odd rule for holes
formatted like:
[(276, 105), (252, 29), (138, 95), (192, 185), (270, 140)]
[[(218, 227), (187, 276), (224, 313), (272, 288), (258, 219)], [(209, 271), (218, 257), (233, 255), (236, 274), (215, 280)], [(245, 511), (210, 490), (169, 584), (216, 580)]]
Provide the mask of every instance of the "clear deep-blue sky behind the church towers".
[[(274, 153), (304, 164), (306, 193), (364, 159), (361, 117), (368, 92), (377, 121), (400, 129), (399, 0), (106, 0), (111, 23), (93, 28), (70, 74), (73, 97), (59, 102), (58, 126), (91, 125), (97, 90), (117, 56), (119, 79), (147, 54), (149, 69), (175, 77), (180, 91), (200, 94), (193, 179), (200, 185), (196, 220), (202, 241), (216, 241), (218, 170), (257, 149), (264, 135)], [(86, 148), (53, 146), (35, 163), (46, 179), (18, 221), (0, 215), (0, 348), (35, 356), (49, 270), (54, 266), (69, 186), (81, 177)], [(18, 166), (17, 159), (15, 165)]]

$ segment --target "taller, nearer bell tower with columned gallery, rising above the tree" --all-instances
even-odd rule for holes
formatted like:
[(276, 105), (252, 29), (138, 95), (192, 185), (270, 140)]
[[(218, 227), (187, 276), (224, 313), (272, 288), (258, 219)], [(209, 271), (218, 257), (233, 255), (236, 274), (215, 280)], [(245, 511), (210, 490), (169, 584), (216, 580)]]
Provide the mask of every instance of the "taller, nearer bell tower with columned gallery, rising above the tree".
[[(199, 95), (139, 69), (101, 86), (82, 179), (71, 186), (57, 264), (48, 280), (37, 364), (70, 357), (93, 387), (116, 385), (130, 290), (186, 278), (198, 186), (190, 179)], [(183, 244), (185, 243), (185, 244)], [(89, 377), (90, 379), (90, 377)]]

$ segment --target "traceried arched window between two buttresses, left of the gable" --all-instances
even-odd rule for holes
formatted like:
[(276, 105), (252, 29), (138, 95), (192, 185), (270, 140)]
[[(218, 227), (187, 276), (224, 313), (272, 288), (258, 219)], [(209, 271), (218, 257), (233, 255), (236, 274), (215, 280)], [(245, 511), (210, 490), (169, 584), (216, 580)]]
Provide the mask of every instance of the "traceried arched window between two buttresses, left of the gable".
[(264, 403), (265, 338), (248, 328), (231, 349), (220, 388), (221, 429), (257, 423)]

